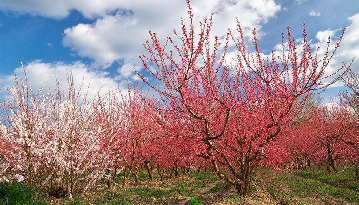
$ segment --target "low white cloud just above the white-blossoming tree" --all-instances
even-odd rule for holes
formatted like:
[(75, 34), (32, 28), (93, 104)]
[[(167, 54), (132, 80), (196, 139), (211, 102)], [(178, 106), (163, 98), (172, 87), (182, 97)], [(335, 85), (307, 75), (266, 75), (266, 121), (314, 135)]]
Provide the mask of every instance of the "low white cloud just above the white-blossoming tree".
[[(44, 63), (40, 60), (35, 60), (25, 66), (25, 71), (29, 86), (34, 91), (37, 91), (42, 84), (45, 84), (45, 88), (54, 90), (56, 88), (56, 78), (61, 81), (61, 89), (66, 91), (67, 72), (72, 72), (74, 84), (77, 88), (79, 88), (82, 80), (84, 80), (83, 92), (87, 90), (89, 85), (89, 98), (95, 97), (98, 90), (103, 94), (119, 86), (114, 79), (108, 77), (108, 73), (90, 70), (81, 62), (65, 64), (63, 62)], [(16, 68), (14, 74), (24, 79), (21, 67)], [(0, 76), (0, 88), (3, 88), (0, 89), (0, 96), (8, 96), (9, 93), (6, 88), (10, 88), (13, 85), (13, 79), (13, 75)]]

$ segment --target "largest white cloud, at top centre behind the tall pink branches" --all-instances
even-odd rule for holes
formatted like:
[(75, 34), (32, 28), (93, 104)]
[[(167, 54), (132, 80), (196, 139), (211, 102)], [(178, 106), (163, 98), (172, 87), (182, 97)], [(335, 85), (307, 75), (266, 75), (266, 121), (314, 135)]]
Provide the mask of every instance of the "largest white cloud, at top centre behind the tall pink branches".
[[(138, 55), (145, 53), (142, 44), (149, 38), (148, 30), (165, 39), (173, 29), (179, 31), (180, 17), (187, 17), (185, 1), (132, 1), (121, 5), (115, 14), (105, 14), (93, 24), (78, 24), (64, 31), (64, 46), (79, 56), (94, 60), (94, 67), (108, 67), (114, 61), (138, 65)], [(250, 36), (253, 27), (275, 16), (280, 5), (273, 0), (257, 1), (193, 1), (196, 22), (205, 15), (214, 15), (214, 35), (225, 35), (227, 28), (236, 28), (235, 18), (241, 22), (245, 35)], [(130, 11), (129, 11), (130, 10)]]

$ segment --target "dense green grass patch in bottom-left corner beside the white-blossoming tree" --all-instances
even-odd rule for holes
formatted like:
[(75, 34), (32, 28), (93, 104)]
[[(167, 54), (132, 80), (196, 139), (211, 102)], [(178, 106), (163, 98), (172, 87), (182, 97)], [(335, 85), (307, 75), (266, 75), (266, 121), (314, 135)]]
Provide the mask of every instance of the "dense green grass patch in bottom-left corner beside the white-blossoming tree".
[(38, 199), (41, 194), (35, 188), (24, 183), (1, 183), (0, 204), (1, 205), (45, 205), (47, 203)]

